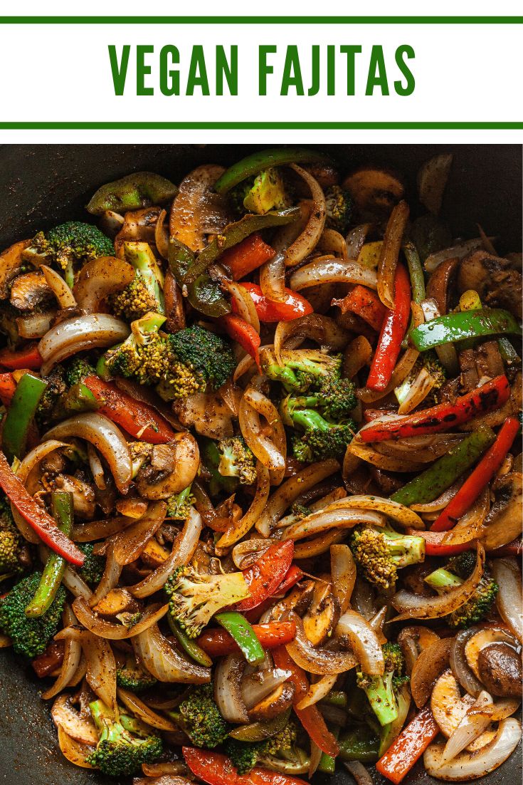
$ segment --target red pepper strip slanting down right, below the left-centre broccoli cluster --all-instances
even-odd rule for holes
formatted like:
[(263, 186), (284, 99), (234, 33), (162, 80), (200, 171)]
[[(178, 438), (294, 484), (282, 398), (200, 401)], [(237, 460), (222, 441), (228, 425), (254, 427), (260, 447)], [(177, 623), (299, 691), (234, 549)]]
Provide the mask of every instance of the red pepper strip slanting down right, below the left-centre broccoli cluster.
[(135, 439), (151, 444), (166, 444), (176, 438), (169, 423), (147, 403), (135, 400), (127, 392), (111, 382), (104, 382), (98, 376), (87, 376), (83, 383), (100, 404), (98, 411)]

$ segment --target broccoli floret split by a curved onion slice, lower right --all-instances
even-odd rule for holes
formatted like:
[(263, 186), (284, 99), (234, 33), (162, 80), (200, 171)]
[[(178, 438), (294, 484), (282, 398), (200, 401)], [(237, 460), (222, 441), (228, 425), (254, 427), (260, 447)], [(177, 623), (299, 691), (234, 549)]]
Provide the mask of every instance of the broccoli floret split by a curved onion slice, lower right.
[[(434, 570), (427, 575), (425, 581), (432, 586), (438, 594), (445, 594), (457, 586), (461, 586), (471, 572), (474, 570), (476, 557), (474, 551), (465, 551), (449, 561), (446, 568)], [(450, 627), (470, 627), (485, 619), (496, 600), (499, 586), (487, 572), (481, 577), (481, 581), (474, 590), (472, 596), (456, 611), (447, 617), (446, 622)]]

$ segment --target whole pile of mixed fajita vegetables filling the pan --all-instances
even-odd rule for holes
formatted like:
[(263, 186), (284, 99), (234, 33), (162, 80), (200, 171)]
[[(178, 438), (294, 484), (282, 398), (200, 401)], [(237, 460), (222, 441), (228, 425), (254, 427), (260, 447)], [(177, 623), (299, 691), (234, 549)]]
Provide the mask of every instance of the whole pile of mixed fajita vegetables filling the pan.
[(67, 760), (468, 782), (518, 746), (521, 254), (452, 237), (451, 171), (138, 172), (0, 255), (0, 640)]

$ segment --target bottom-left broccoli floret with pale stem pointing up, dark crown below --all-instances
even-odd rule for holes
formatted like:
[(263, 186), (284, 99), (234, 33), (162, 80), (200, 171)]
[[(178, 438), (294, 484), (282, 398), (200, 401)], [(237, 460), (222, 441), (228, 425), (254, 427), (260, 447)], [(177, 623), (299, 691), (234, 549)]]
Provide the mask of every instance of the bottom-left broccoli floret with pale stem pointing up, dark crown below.
[(89, 703), (89, 709), (100, 738), (96, 750), (85, 760), (104, 774), (133, 776), (141, 771), (143, 763), (154, 763), (162, 755), (159, 736), (133, 735), (122, 725), (123, 717), (116, 721), (101, 700)]

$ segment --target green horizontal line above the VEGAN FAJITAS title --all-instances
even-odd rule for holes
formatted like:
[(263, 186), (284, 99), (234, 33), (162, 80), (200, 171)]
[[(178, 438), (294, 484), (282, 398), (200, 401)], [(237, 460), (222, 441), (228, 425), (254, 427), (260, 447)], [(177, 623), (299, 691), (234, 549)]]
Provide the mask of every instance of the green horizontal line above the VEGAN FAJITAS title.
[(523, 16), (0, 16), (0, 24), (523, 24)]

